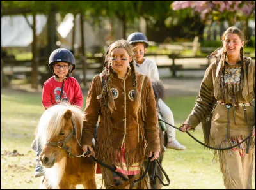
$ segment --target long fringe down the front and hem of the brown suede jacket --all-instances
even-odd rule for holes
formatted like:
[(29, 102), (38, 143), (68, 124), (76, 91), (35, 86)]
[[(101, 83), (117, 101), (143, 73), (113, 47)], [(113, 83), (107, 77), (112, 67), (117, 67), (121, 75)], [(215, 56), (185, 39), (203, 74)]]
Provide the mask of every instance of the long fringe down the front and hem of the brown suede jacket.
[[(150, 88), (148, 86), (148, 83), (143, 82), (143, 89), (141, 91), (141, 114), (139, 114), (139, 117), (142, 118), (142, 121), (145, 122), (145, 119), (147, 117), (147, 106), (149, 104), (148, 100), (148, 94), (150, 93)], [(96, 141), (96, 152), (97, 152), (97, 159), (102, 162), (106, 162), (109, 159), (112, 161), (114, 165), (118, 165), (121, 168), (122, 166), (122, 150), (113, 148), (113, 124), (111, 122), (111, 119), (109, 117), (110, 112), (109, 109), (105, 106), (105, 97), (100, 99), (100, 112), (102, 113), (102, 116), (104, 117), (104, 129), (106, 135), (104, 135), (106, 138), (104, 139), (97, 139)], [(141, 120), (140, 118), (138, 119)], [(136, 149), (133, 150), (125, 150), (125, 164), (127, 168), (129, 168), (132, 164), (139, 162), (141, 163), (144, 159), (145, 150), (148, 147), (148, 143), (145, 140), (145, 129), (143, 127), (143, 122), (139, 122), (139, 142)], [(102, 148), (104, 147), (104, 148)], [(120, 145), (121, 147), (121, 145)]]

